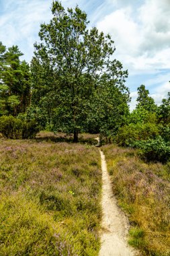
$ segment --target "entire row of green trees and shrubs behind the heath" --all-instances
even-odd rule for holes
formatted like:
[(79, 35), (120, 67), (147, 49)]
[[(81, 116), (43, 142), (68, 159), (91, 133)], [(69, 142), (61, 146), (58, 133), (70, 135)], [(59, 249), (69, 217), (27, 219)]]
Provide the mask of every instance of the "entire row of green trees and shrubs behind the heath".
[(1, 133), (26, 138), (40, 129), (62, 131), (75, 142), (79, 133), (100, 133), (107, 142), (140, 148), (148, 160), (169, 159), (170, 94), (157, 106), (142, 85), (130, 113), (128, 71), (113, 59), (110, 35), (89, 30), (79, 7), (66, 11), (53, 1), (52, 15), (40, 26), (30, 66), (17, 46), (0, 43)]

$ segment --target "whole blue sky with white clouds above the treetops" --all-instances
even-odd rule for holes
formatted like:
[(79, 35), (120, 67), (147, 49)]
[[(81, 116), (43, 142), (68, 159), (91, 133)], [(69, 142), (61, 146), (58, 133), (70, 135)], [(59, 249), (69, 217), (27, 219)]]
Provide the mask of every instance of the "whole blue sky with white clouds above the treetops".
[[(170, 0), (62, 0), (87, 13), (89, 26), (110, 34), (114, 59), (128, 69), (130, 109), (136, 105), (137, 88), (144, 84), (157, 104), (170, 92)], [(40, 24), (52, 18), (51, 0), (0, 0), (0, 41), (19, 46), (30, 62)]]

